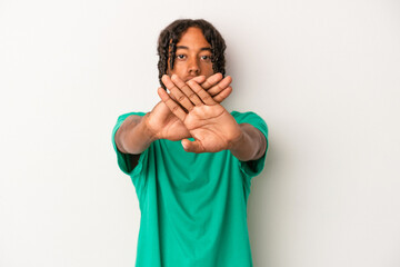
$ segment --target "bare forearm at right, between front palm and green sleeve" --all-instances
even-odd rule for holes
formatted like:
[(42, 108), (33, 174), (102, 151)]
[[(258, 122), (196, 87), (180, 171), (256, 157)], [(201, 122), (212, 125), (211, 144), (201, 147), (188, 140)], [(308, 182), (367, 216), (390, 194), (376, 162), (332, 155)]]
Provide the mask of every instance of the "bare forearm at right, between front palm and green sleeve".
[(229, 150), (241, 161), (257, 160), (264, 155), (267, 139), (264, 135), (249, 123), (240, 123), (241, 136), (230, 144)]

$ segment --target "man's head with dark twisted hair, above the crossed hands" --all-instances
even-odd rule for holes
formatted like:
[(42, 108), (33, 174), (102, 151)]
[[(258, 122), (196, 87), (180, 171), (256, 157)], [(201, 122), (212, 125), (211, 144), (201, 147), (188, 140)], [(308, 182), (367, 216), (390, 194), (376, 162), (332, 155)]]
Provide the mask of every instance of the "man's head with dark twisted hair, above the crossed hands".
[(158, 40), (159, 80), (177, 75), (188, 79), (216, 72), (224, 76), (226, 43), (218, 30), (206, 20), (176, 20), (161, 31)]

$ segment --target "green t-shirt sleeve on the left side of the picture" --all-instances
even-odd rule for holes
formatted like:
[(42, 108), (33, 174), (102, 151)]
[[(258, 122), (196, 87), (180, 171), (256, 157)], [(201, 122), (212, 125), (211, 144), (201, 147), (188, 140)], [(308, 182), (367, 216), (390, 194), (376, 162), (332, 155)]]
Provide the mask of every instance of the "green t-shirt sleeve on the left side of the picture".
[(120, 117), (118, 117), (117, 119), (117, 123), (114, 126), (114, 128), (112, 129), (112, 138), (111, 138), (111, 141), (112, 141), (112, 146), (114, 148), (114, 151), (117, 154), (117, 162), (118, 162), (118, 166), (119, 168), (127, 175), (129, 176), (132, 176), (133, 174), (133, 170), (134, 172), (138, 172), (139, 169), (141, 168), (142, 166), (142, 161), (143, 161), (143, 158), (144, 158), (144, 155), (143, 152), (140, 155), (140, 158), (139, 158), (139, 162), (138, 165), (133, 168), (132, 166), (132, 156), (129, 155), (129, 154), (123, 154), (121, 152), (120, 150), (118, 150), (117, 148), (117, 144), (116, 144), (116, 134), (117, 134), (117, 130), (121, 127), (121, 125), (123, 123), (123, 121), (131, 115), (138, 115), (138, 116), (144, 116), (146, 113), (144, 112), (130, 112), (130, 113), (124, 113), (124, 115), (121, 115)]

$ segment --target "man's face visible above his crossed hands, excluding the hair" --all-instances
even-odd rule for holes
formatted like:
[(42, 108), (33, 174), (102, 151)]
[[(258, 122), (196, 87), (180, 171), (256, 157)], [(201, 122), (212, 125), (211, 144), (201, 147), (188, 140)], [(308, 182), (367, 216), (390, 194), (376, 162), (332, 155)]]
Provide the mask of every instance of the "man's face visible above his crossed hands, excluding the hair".
[(168, 60), (169, 76), (177, 75), (183, 81), (188, 81), (197, 76), (213, 75), (211, 62), (211, 46), (206, 40), (201, 29), (190, 27), (182, 34), (177, 43), (177, 52), (171, 70)]

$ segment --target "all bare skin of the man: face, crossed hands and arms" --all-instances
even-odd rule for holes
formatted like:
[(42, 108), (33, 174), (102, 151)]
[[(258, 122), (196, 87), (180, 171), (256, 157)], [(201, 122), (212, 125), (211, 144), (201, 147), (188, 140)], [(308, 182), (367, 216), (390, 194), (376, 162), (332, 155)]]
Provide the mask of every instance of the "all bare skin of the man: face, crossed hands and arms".
[[(181, 140), (188, 152), (229, 149), (238, 159), (260, 158), (267, 148), (263, 135), (248, 123), (238, 125), (220, 105), (231, 92), (231, 78), (213, 73), (211, 46), (198, 28), (189, 28), (177, 43), (173, 69), (162, 77), (169, 92), (144, 117), (130, 116), (116, 134), (121, 152), (139, 155), (157, 139)], [(188, 140), (193, 137), (194, 141)]]

